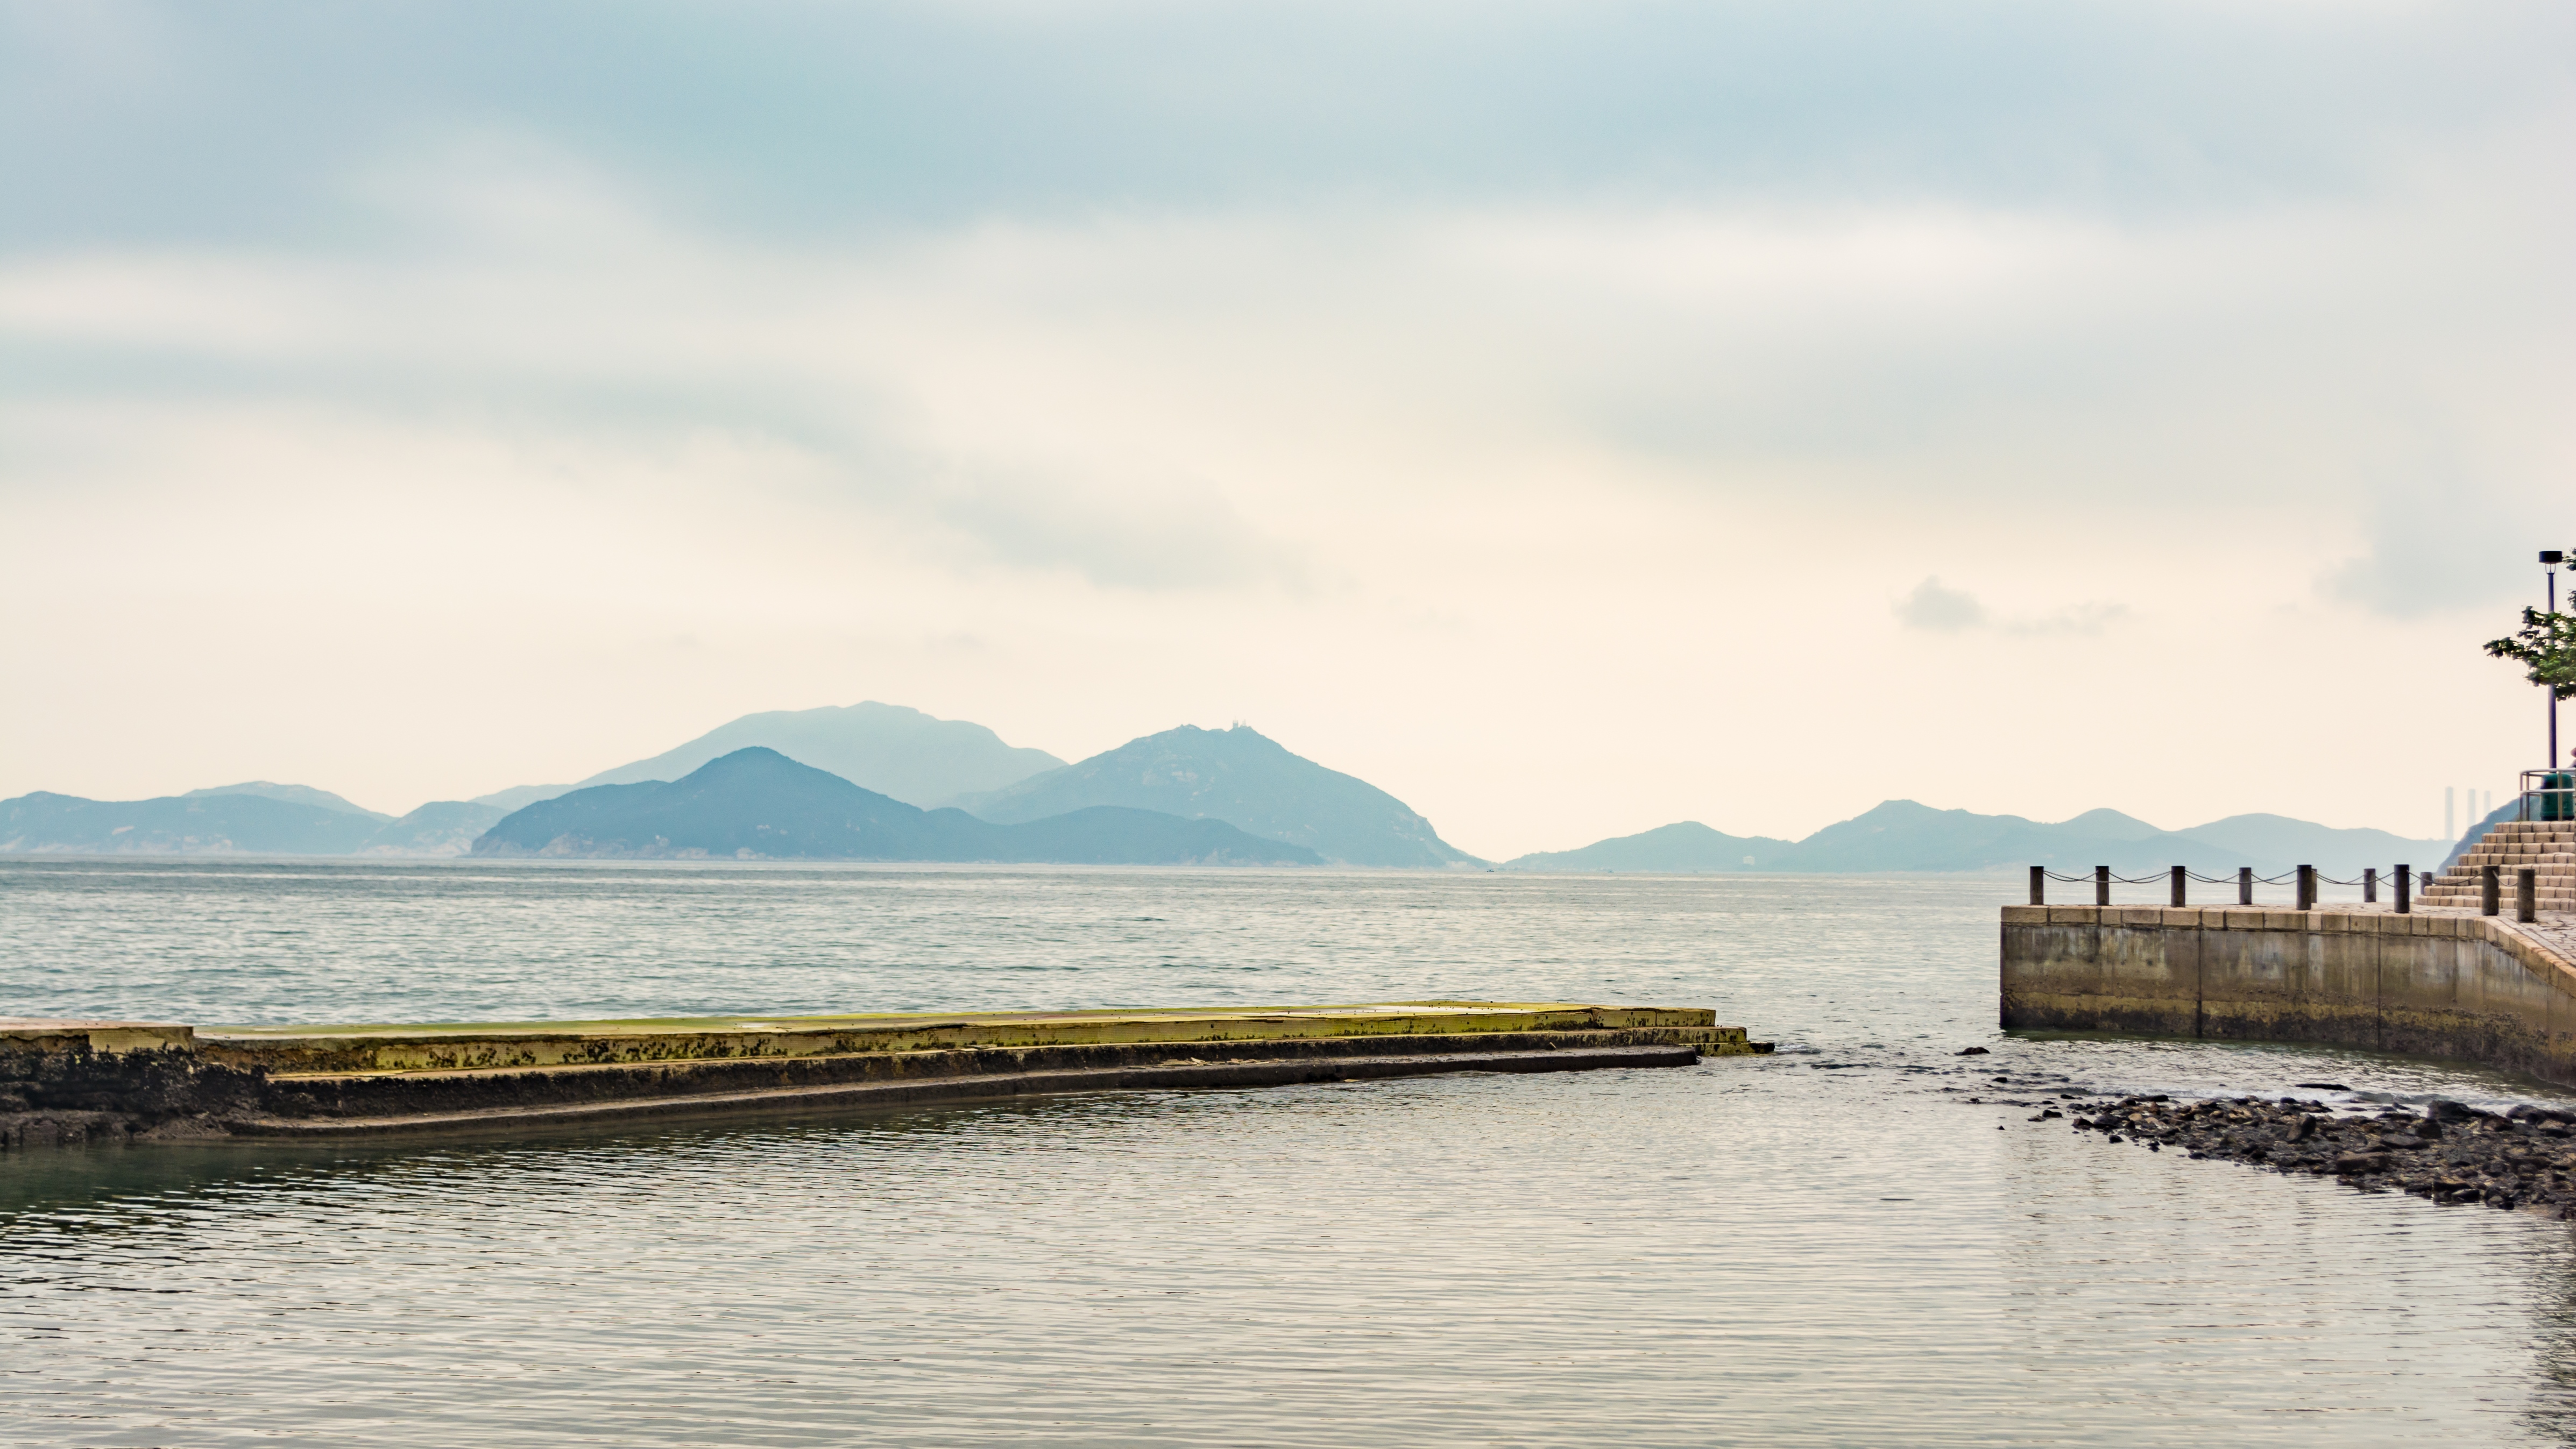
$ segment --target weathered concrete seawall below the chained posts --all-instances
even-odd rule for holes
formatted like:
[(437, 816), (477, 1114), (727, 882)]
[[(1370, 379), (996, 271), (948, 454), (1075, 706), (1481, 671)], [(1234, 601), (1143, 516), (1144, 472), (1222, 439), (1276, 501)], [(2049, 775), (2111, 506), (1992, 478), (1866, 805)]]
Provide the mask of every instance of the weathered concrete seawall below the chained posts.
[(2007, 906), (2007, 1029), (2334, 1042), (2576, 1084), (2576, 963), (2501, 916)]

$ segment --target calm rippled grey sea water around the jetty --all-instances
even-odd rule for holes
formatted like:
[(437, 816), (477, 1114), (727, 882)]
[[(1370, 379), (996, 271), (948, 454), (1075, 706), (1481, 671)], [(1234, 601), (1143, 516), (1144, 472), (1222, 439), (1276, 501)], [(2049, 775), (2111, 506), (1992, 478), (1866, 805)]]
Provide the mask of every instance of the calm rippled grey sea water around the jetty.
[[(2007, 1040), (2012, 880), (0, 862), (0, 1014), (1561, 996), (1687, 1071), (0, 1161), (5, 1444), (2561, 1444), (2561, 1223), (1965, 1096), (2548, 1096)], [(1965, 1045), (1994, 1055), (1958, 1058)]]

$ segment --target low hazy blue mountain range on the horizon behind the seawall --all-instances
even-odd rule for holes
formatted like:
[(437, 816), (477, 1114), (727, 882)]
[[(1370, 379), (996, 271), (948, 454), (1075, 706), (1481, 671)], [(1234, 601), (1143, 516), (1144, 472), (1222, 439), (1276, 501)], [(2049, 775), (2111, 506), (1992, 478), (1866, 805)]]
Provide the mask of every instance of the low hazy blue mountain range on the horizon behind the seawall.
[[(2187, 865), (2202, 875), (2226, 875), (2251, 865), (2262, 875), (2280, 875), (2293, 865), (2316, 865), (2326, 875), (2349, 878), (2365, 865), (2429, 867), (2442, 857), (2442, 842), (2409, 842), (2388, 831), (2331, 829), (2285, 816), (2228, 816), (2192, 831), (2166, 831), (2120, 811), (2084, 811), (2071, 821), (2040, 824), (2022, 816), (1935, 811), (1914, 800), (1886, 800), (1795, 844), (1765, 842), (1767, 849), (1754, 849), (1752, 842), (1741, 849), (1721, 844), (1734, 839), (1685, 821), (1582, 849), (1522, 854), (1510, 867), (1875, 872), (2048, 865), (2079, 872), (2107, 865), (2120, 875), (2146, 875)], [(1710, 865), (1723, 862), (1728, 852), (1736, 865)], [(1741, 865), (1744, 854), (1759, 865)]]

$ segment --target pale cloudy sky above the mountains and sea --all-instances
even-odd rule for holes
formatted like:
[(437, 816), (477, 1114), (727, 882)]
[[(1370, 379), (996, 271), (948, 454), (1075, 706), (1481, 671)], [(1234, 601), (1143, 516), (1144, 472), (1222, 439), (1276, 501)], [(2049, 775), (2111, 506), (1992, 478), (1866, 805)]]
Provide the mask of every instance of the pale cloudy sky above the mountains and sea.
[(2432, 836), (2571, 152), (2550, 3), (0, 0), (0, 795), (886, 700), (1484, 857)]

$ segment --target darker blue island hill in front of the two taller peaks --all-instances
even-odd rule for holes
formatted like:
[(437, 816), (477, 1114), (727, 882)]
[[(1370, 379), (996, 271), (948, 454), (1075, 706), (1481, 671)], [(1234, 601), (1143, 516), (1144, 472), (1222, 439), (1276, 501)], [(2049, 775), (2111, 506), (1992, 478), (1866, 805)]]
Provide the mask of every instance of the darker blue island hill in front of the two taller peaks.
[(1028, 824), (922, 811), (775, 749), (737, 749), (672, 782), (592, 785), (510, 813), (474, 854), (641, 860), (956, 860), (1069, 865), (1316, 865), (1224, 821), (1087, 808)]

